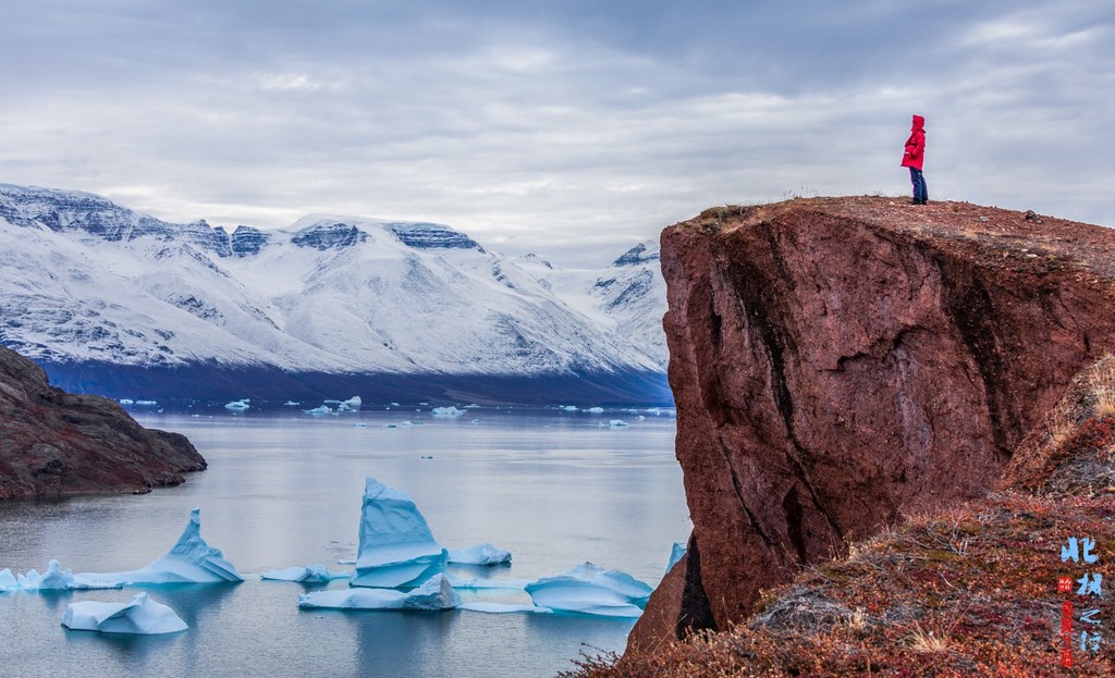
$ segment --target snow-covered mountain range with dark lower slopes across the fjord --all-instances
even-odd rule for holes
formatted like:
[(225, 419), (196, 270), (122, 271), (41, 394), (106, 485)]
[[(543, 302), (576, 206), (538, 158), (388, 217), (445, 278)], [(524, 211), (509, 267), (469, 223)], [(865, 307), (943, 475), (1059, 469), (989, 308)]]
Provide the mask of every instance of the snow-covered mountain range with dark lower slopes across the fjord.
[(562, 270), (440, 224), (314, 215), (230, 233), (0, 184), (0, 342), (77, 390), (660, 401), (665, 310), (651, 243)]

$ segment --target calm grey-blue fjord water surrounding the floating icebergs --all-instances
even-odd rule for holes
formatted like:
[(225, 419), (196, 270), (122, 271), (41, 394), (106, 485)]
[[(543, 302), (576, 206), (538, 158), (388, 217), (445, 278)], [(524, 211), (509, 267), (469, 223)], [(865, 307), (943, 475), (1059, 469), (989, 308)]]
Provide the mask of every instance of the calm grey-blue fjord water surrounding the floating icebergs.
[[(303, 611), (298, 595), (321, 587), (260, 581), (266, 570), (337, 570), (355, 558), (367, 476), (408, 492), (443, 545), (489, 541), (513, 553), (510, 568), (454, 569), (463, 577), (532, 580), (591, 561), (655, 585), (671, 543), (689, 533), (668, 416), (135, 414), (188, 436), (209, 471), (143, 496), (0, 503), (0, 569), (41, 572), (49, 559), (75, 572), (138, 568), (169, 549), (198, 506), (202, 535), (245, 582), (143, 589), (190, 624), (158, 637), (59, 623), (69, 602), (125, 601), (135, 590), (0, 594), (0, 675), (532, 677), (623, 648), (632, 620)], [(608, 426), (614, 418), (630, 426)], [(418, 425), (388, 427), (405, 419)], [(529, 602), (513, 591), (463, 597)]]

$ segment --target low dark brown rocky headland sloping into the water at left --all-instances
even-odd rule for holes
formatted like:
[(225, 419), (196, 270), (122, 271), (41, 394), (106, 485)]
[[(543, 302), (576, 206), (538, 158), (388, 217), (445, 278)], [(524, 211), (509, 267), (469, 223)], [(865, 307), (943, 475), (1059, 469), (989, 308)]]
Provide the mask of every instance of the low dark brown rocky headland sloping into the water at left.
[(144, 428), (115, 401), (51, 388), (0, 347), (0, 500), (149, 492), (203, 471), (185, 436)]

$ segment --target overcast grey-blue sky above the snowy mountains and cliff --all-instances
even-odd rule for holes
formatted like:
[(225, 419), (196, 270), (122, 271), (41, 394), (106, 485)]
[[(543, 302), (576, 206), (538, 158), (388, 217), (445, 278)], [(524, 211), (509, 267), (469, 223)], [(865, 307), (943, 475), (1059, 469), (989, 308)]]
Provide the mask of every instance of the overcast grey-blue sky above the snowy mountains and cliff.
[(1115, 225), (1115, 2), (4, 0), (0, 182), (169, 221), (429, 220), (614, 259), (718, 204)]

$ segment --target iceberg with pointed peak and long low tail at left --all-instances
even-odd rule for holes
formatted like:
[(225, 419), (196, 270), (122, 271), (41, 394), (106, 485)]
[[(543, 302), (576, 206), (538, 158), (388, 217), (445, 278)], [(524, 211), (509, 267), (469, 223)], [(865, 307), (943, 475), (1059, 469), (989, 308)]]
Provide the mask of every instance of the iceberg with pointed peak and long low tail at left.
[(78, 574), (87, 582), (127, 584), (206, 584), (244, 581), (220, 549), (202, 539), (201, 510), (190, 512), (190, 522), (169, 553), (146, 568), (128, 572)]

